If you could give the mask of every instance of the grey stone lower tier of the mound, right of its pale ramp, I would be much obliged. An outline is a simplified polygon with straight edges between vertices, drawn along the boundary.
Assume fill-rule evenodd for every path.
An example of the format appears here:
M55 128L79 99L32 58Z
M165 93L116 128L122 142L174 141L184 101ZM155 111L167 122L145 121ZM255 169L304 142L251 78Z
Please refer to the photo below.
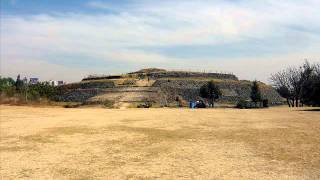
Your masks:
M239 100L250 99L251 82L232 80L213 80L221 89L222 97L219 102L237 103ZM176 97L182 97L185 101L201 99L199 97L200 87L207 83L207 80L157 80L153 86L159 87L165 94L167 102L174 102ZM280 95L271 87L260 84L262 97L268 99L271 104L282 103Z

